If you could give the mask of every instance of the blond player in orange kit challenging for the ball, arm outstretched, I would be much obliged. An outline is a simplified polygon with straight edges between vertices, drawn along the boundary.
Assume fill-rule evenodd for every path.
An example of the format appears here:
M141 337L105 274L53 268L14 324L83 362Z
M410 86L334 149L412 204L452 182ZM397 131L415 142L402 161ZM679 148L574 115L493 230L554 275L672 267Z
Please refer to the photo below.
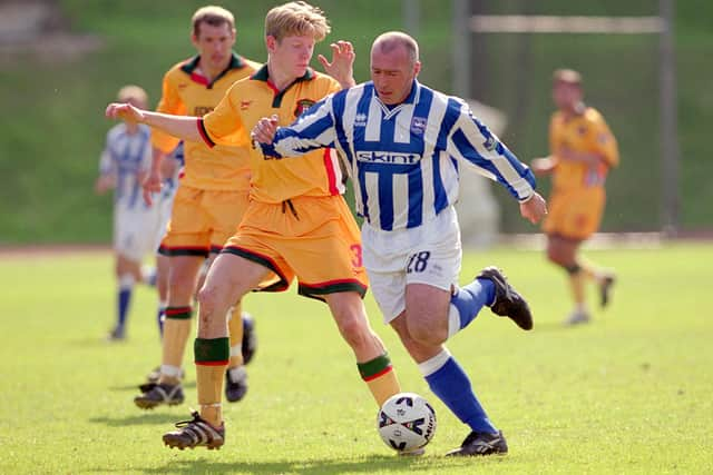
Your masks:
M329 93L354 85L354 52L346 41L332 44L332 62L319 58L331 77L309 67L314 44L329 31L319 8L302 1L275 7L265 18L267 63L250 79L236 82L213 112L196 120L113 103L106 115L148 123L209 146L250 147L250 131L260 118L276 115L280 123L291 123ZM177 424L178 431L164 435L164 443L170 447L218 448L224 444L221 388L228 356L225 313L271 275L279 280L268 289L286 289L296 276L301 295L329 305L377 404L400 392L389 356L371 329L361 300L367 275L359 228L341 196L344 186L335 151L316 150L301 160L265 160L258 149L250 150L251 202L198 294L194 349L201 413Z

